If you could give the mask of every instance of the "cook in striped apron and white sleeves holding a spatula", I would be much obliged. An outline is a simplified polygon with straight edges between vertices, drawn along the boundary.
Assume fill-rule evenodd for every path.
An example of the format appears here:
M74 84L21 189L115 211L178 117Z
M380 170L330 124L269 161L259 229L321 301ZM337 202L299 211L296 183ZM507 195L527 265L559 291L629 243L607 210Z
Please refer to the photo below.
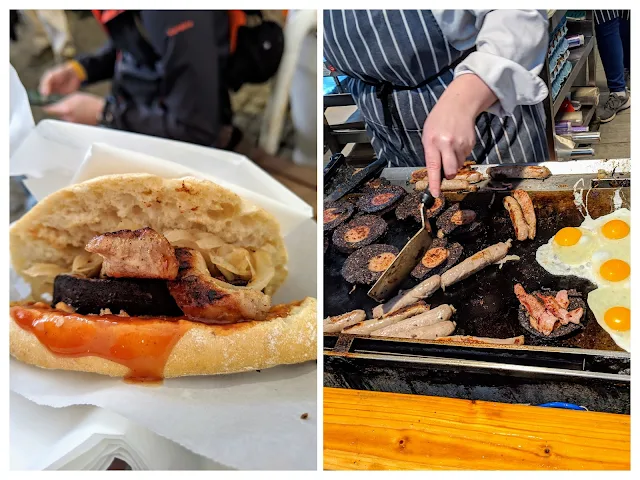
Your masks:
M378 158L440 192L467 160L547 159L544 10L324 11L324 55L350 77Z

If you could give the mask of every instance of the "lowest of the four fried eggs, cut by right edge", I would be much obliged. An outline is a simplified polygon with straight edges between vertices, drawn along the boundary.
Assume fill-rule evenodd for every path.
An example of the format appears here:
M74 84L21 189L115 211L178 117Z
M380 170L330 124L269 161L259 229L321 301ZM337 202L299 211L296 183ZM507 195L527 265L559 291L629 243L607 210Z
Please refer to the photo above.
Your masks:
M620 348L631 351L631 290L602 287L587 296L598 324Z

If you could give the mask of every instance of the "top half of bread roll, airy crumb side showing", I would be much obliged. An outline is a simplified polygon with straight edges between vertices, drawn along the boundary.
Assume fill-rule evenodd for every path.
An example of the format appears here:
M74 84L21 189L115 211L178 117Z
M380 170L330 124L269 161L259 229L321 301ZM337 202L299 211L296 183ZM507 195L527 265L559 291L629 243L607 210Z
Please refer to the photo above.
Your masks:
M37 264L70 271L94 236L144 227L207 232L231 246L267 249L275 268L267 295L287 277L280 225L270 213L207 180L148 174L98 177L44 198L11 228L11 263L27 281L33 279L25 271Z

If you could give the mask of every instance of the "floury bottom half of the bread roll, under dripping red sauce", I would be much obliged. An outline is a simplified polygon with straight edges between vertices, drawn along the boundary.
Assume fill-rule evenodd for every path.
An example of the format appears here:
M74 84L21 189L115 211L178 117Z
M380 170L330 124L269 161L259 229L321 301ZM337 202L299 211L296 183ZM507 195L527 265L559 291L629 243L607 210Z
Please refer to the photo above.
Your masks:
M286 317L235 325L189 322L173 347L164 378L217 375L302 363L317 357L316 300L306 298ZM41 368L125 377L129 368L96 356L51 353L31 332L10 319L10 351L16 359Z

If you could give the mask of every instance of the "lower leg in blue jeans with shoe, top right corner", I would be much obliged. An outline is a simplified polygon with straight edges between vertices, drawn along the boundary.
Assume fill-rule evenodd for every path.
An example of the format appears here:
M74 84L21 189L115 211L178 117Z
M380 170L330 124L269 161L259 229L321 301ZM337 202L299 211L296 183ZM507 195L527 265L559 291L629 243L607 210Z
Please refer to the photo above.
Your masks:
M609 98L598 106L600 122L613 120L631 106L631 10L594 10L598 52L609 87Z

